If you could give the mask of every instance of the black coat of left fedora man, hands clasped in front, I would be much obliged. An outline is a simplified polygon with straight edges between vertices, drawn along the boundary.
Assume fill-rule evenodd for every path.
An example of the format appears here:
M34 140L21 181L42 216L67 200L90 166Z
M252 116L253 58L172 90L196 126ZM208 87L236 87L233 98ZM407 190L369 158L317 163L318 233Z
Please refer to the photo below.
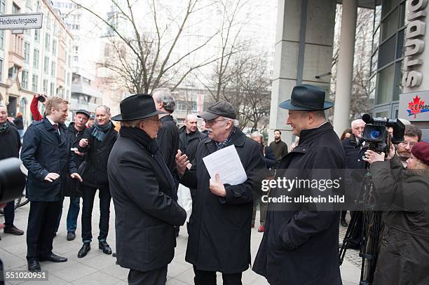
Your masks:
M128 137L119 137L112 148L108 174L119 265L139 271L168 265L175 253L173 225L186 220L186 211L172 198L176 189L147 146Z

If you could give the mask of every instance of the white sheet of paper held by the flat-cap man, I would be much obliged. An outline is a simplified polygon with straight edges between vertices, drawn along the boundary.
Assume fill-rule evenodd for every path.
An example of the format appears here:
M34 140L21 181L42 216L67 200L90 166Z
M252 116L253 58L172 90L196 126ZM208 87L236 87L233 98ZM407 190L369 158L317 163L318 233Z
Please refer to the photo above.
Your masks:
M235 146L227 146L203 158L210 178L219 174L222 183L237 185L247 180L247 175Z

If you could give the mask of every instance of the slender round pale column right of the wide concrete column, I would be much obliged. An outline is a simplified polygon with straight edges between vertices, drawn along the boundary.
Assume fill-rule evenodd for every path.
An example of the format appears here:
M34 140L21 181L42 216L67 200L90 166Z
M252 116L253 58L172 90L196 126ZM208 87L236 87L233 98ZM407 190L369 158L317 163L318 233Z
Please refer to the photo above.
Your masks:
M336 68L336 95L334 105L334 130L341 136L349 125L350 99L353 78L353 56L355 54L355 34L357 0L343 0L341 15L341 36Z

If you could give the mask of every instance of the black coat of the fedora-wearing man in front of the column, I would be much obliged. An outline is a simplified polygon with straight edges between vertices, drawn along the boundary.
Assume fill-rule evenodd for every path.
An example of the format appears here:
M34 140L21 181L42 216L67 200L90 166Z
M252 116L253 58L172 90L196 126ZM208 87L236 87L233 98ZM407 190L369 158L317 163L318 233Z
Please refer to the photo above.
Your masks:
M339 138L332 125L325 123L301 131L299 146L282 158L275 179L294 179L293 169L344 166L345 154ZM338 240L338 211L312 211L307 207L297 211L268 210L253 270L273 285L339 285Z

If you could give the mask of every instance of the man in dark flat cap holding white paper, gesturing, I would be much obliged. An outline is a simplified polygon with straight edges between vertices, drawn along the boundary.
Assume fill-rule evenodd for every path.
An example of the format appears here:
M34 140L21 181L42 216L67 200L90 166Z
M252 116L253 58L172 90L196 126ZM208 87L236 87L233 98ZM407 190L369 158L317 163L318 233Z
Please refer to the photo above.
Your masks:
M200 115L208 137L198 144L191 169L181 151L176 163L180 183L191 189L193 204L188 226L186 261L193 265L196 285L216 284L216 272L222 272L224 284L241 284L242 272L250 265L250 223L254 200L254 180L264 169L261 146L245 137L235 125L236 110L221 101ZM238 185L222 183L217 174L210 179L203 158L227 146L235 146L247 174Z

